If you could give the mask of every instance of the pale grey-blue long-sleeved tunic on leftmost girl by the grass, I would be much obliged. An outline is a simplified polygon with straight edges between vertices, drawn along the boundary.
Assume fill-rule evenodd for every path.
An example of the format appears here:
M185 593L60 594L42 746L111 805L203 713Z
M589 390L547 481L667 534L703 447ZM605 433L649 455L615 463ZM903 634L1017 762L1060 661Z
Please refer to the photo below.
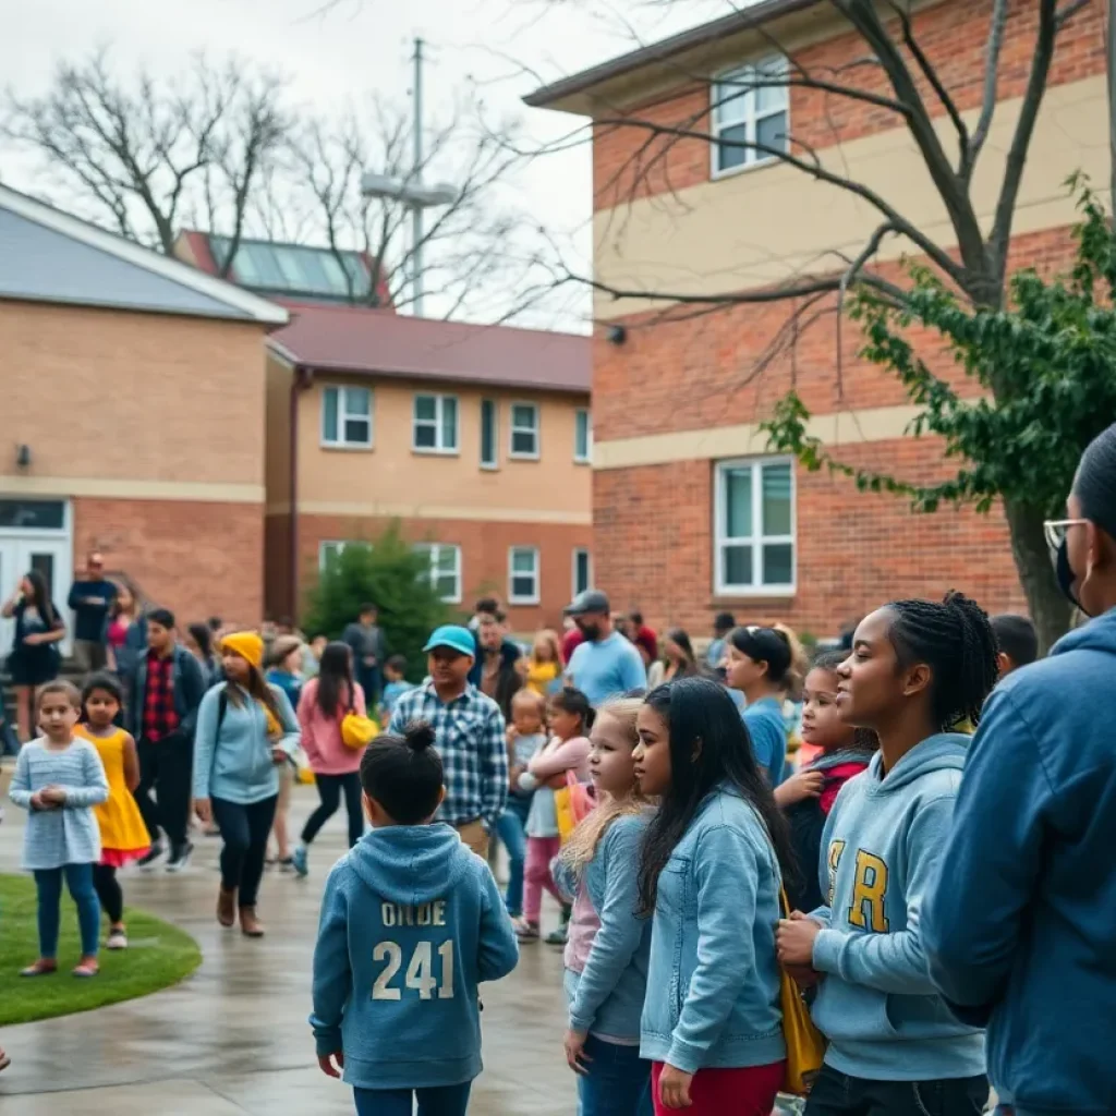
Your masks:
M60 787L66 801L55 809L35 809L31 797L44 787ZM93 744L74 740L60 751L41 739L23 744L8 797L31 815L23 831L26 870L100 860L100 829L93 807L108 801L108 780Z

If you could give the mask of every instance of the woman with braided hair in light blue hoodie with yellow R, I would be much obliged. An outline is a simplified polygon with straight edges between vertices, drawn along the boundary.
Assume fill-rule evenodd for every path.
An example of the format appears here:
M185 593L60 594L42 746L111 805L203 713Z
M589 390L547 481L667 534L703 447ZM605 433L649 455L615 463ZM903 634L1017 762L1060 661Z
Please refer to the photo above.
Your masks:
M814 1021L829 1039L807 1116L980 1113L984 1037L930 980L921 935L970 739L995 684L984 612L960 593L897 600L857 626L837 708L879 751L837 796L818 865L826 905L779 924L779 960L821 978Z

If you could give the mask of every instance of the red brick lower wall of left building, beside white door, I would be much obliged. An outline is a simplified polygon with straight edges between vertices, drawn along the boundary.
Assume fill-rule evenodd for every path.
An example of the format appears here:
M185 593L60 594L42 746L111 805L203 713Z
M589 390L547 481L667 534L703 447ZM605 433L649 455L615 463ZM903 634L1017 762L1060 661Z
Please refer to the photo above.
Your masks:
M75 564L94 548L180 625L263 617L262 504L76 499Z

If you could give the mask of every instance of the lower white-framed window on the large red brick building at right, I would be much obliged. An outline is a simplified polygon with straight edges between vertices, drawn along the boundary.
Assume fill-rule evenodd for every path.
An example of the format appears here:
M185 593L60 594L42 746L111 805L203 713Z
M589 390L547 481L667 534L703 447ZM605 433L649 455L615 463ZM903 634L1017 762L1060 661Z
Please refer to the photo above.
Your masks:
M721 461L713 507L719 596L795 591L795 466L789 458Z

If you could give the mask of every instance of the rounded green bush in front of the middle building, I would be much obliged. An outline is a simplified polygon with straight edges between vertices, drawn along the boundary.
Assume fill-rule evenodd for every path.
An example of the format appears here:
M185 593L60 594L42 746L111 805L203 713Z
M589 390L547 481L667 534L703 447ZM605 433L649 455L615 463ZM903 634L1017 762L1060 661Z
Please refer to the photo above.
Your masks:
M397 523L367 543L349 543L329 560L307 596L305 627L337 639L367 603L379 609L388 651L405 655L407 676L421 681L430 633L454 616L431 584L429 559L412 549Z

